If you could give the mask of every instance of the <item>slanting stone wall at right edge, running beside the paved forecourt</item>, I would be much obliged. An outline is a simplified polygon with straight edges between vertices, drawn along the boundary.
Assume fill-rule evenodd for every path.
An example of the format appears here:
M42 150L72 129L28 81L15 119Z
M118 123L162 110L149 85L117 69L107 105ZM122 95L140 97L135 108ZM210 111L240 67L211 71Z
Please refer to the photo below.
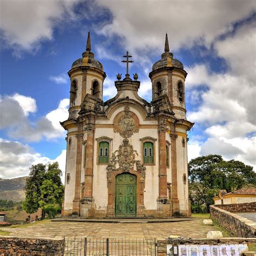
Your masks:
M218 205L219 206L219 205ZM211 218L237 237L256 237L256 224L237 214L225 211L214 205L210 206Z

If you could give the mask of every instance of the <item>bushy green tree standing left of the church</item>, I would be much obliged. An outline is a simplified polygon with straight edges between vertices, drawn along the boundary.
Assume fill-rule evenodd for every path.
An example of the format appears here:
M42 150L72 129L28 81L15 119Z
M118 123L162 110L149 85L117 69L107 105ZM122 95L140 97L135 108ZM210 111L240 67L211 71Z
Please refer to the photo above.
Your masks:
M26 179L23 209L34 213L40 207L42 218L45 218L45 208L48 205L61 205L64 186L60 180L62 171L57 162L53 164L37 164L30 167L29 177Z

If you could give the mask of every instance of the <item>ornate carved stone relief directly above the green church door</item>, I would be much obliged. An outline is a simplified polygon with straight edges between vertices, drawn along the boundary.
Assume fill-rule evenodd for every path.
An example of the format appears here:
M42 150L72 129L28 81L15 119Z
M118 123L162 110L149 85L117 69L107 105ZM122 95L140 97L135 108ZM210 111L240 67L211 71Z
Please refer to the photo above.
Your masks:
M119 172L120 170L123 172L136 170L141 177L145 178L146 167L143 166L140 160L136 160L136 156L138 158L137 151L133 150L133 146L128 139L124 139L123 144L112 154L110 163L107 165L107 178L109 179L113 172Z

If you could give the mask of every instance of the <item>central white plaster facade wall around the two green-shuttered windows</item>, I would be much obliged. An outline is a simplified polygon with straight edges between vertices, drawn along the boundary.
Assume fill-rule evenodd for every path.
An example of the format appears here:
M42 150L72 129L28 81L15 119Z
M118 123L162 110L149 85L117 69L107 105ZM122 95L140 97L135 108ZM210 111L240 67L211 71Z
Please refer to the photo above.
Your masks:
M107 123L112 124L113 117L117 113L123 111L124 107L120 106L116 110L111 120L108 120ZM152 122L144 122L137 110L130 107L130 111L137 114L139 122L144 124L152 124ZM100 123L100 120L97 120L97 123ZM102 123L102 122L101 122ZM106 122L105 122L106 123ZM115 133L112 128L109 127L100 127L96 128L95 131L95 156L97 156L97 138L107 136L112 138L111 142L111 154L118 150L119 146L123 143L123 137L119 133ZM133 149L138 153L138 159L142 160L142 143L140 139L144 137L152 137L157 139L155 143L155 153L156 153L156 165L146 166L146 178L145 178L145 193L144 193L144 205L146 209L156 210L157 209L157 198L158 198L158 131L156 128L152 129L139 129L138 133L134 133L130 138L129 142L133 146ZM106 166L107 165L97 165L97 157L93 160L93 197L95 198L96 208L105 208L107 206L107 179L106 179ZM117 166L118 167L118 166Z

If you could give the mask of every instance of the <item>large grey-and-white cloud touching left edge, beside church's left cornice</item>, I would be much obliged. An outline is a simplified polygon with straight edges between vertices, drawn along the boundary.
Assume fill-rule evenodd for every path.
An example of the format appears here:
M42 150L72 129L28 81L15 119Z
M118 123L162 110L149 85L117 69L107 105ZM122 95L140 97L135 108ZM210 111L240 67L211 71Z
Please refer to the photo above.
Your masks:
M35 123L30 122L25 113L36 111L36 100L16 94L14 97L5 96L0 101L1 129L8 128L10 138L22 139L26 142L38 142L45 139L64 137L65 131L59 122L68 118L69 99L60 101L57 109L39 118ZM26 102L28 99L28 102ZM32 104L31 104L32 103Z

